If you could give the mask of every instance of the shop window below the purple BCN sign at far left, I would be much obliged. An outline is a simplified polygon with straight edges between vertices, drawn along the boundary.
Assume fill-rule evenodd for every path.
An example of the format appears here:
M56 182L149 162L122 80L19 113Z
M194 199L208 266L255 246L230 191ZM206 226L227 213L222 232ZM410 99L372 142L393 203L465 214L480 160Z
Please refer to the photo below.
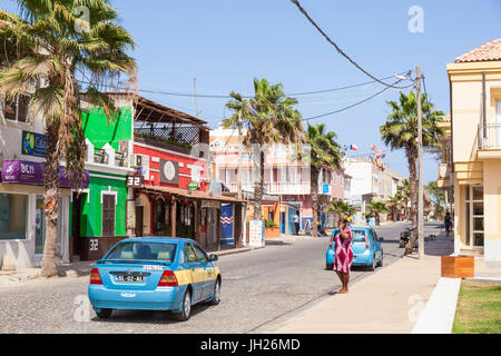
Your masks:
M0 194L0 240L27 238L28 196Z

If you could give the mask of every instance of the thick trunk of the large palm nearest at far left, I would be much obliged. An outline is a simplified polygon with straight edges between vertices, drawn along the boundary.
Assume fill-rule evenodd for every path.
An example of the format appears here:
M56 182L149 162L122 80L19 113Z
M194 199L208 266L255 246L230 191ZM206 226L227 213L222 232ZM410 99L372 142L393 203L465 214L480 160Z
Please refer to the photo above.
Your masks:
M58 226L58 196L59 196L59 157L56 155L58 130L55 126L47 127L47 156L43 164L45 209L46 209L46 241L41 264L41 277L51 277L58 274L56 266L56 240Z

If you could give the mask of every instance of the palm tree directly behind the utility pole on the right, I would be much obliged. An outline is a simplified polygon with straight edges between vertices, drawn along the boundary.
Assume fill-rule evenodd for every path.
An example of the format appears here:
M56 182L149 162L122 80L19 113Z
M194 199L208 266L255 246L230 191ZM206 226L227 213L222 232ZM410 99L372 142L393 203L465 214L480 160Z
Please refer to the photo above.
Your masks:
M403 148L409 166L409 181L411 192L412 235L405 248L404 255L412 253L412 247L418 238L418 105L413 91L406 96L401 92L399 102L389 101L392 112L386 122L380 127L381 137L391 149ZM435 111L434 105L428 100L428 96L421 97L423 147L431 147L438 142L438 137L443 135L438 123L442 121L443 112Z

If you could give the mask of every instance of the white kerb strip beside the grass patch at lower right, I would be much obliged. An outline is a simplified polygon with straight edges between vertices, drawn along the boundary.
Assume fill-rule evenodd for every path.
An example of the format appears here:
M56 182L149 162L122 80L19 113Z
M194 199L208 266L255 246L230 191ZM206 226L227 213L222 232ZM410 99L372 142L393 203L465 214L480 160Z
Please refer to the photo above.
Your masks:
M411 334L451 334L461 278L441 277Z

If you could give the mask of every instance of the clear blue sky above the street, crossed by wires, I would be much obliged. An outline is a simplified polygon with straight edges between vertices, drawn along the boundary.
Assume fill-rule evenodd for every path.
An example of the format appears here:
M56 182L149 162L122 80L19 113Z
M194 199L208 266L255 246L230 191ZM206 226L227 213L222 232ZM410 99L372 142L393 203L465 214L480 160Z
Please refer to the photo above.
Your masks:
M2 0L4 3L4 1ZM376 77L420 65L436 108L449 112L445 65L501 34L499 0L302 0L303 7L345 52ZM139 87L198 93L252 92L254 77L282 82L286 92L336 88L370 79L337 55L289 0L115 0L122 26L134 36ZM412 6L424 9L424 33L407 30ZM4 6L14 10L12 1ZM304 117L333 111L381 90L380 85L334 93L297 97ZM313 122L326 122L341 144L357 152L385 149L379 135L389 113L387 90L370 102ZM147 95L195 112L193 98ZM198 99L212 128L224 116L224 99ZM228 115L228 111L226 111ZM407 175L403 151L385 162ZM424 181L436 179L436 161L425 156Z

